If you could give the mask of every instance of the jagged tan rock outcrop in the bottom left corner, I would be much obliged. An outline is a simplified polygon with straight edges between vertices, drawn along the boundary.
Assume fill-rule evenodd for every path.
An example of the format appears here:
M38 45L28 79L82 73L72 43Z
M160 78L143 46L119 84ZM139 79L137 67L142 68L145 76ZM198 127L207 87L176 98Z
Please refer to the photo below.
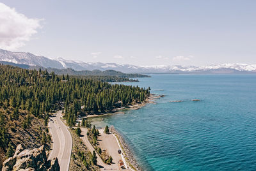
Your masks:
M37 149L24 149L23 144L17 145L15 154L4 161L2 171L8 170L40 170L53 171L60 170L58 159L47 160L44 145Z

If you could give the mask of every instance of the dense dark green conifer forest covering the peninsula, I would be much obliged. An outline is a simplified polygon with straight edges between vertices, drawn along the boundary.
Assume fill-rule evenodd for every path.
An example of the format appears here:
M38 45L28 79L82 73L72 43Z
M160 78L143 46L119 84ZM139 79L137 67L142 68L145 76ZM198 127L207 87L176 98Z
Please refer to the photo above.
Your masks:
M150 94L145 88L14 66L0 65L0 75L0 107L3 110L12 107L10 117L13 121L19 119L19 110L45 118L48 112L64 107L67 124L73 126L78 115L109 112L115 107L144 101ZM2 133L6 130L0 130L0 144L6 150Z

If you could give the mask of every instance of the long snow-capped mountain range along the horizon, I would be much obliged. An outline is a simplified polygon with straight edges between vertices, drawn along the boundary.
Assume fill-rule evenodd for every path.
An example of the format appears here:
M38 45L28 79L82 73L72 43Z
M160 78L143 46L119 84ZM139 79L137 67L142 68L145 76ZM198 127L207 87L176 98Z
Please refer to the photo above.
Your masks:
M217 64L207 66L135 66L116 63L84 63L63 58L49 59L29 52L10 52L0 49L0 61L44 68L74 70L116 70L124 73L256 73L256 64Z

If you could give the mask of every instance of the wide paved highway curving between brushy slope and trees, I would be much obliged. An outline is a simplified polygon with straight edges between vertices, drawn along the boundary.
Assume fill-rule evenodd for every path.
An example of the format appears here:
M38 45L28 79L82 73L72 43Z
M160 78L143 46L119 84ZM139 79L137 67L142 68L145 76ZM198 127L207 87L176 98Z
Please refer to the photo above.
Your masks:
M68 170L70 156L72 151L72 137L68 131L68 127L60 119L61 111L55 117L51 117L49 132L52 135L52 151L49 154L48 160L58 158L60 170Z

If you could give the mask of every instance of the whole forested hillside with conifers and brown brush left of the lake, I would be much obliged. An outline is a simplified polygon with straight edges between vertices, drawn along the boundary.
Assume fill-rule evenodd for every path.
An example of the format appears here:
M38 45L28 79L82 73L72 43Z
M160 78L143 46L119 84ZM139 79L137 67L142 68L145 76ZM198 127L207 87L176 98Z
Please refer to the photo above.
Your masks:
M26 148L51 141L49 114L65 109L68 126L78 115L111 112L144 101L148 89L109 84L90 78L0 65L0 160L12 156L17 144Z

